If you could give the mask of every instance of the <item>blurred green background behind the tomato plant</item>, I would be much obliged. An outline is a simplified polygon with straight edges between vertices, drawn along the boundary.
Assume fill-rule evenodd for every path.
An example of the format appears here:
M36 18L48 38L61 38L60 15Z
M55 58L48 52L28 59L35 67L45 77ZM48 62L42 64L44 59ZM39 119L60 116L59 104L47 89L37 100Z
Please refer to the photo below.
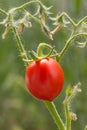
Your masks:
M28 0L0 0L0 8L6 11ZM54 14L67 12L76 22L87 15L87 0L42 0L47 6L53 6ZM2 15L0 14L0 21ZM0 130L56 130L47 108L28 94L25 86L25 67L21 61L17 43L12 32L5 40L1 39L4 27L0 26ZM67 29L55 34L50 41L41 31L40 26L24 29L21 39L26 50L35 50L40 42L55 45L60 51L67 40ZM73 130L83 130L87 124L87 48L77 48L73 43L61 60L65 74L65 85L55 104L64 119L63 100L66 86L82 83L82 93L72 102L72 110L78 120L72 123Z

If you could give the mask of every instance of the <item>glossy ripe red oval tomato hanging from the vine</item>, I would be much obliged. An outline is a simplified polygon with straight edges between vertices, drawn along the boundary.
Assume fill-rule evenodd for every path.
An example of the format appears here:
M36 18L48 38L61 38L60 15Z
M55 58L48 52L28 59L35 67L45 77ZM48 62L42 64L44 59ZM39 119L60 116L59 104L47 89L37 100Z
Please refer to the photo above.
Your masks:
M33 96L52 101L63 88L64 74L56 60L46 58L34 61L27 67L25 80L28 90Z

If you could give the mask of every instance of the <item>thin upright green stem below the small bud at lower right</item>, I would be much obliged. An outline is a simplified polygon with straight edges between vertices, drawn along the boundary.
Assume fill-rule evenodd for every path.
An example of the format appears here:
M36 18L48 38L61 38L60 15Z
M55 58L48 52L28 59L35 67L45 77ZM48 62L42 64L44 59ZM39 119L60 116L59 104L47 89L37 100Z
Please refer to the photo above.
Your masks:
M69 105L67 101L64 103L65 108L65 114L66 114L66 130L71 130L71 118L70 118L70 111L69 111Z

